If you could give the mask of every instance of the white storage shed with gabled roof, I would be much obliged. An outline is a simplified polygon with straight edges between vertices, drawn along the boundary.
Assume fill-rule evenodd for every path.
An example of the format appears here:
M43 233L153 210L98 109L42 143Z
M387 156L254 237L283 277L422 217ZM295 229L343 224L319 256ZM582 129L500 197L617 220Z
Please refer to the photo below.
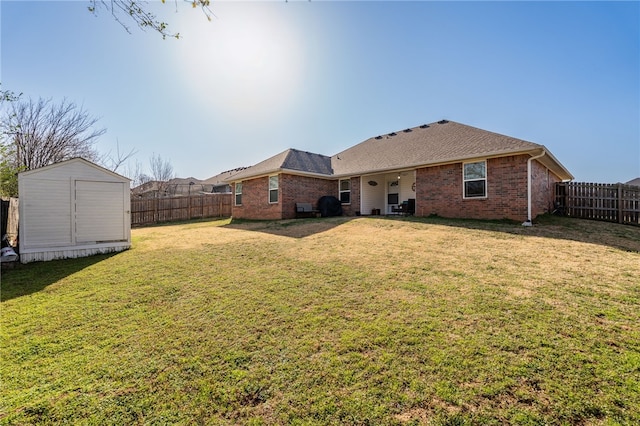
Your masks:
M18 175L20 261L131 247L129 179L82 158Z

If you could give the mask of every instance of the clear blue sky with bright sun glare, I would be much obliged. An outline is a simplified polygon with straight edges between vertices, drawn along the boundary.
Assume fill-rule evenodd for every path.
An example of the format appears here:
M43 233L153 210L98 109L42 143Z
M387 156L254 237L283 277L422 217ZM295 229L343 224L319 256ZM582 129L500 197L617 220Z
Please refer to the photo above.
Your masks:
M640 177L640 2L0 0L0 82L74 102L96 145L206 179L288 148L334 155L441 119L546 146L578 182ZM108 1L107 1L108 4ZM125 23L128 23L126 19Z

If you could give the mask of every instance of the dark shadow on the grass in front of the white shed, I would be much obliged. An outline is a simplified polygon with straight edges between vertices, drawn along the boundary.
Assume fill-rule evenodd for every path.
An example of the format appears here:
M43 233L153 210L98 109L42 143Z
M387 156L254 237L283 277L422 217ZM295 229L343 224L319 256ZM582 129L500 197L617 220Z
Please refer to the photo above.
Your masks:
M73 275L118 253L97 254L76 259L52 260L48 262L17 263L2 270L0 302L42 291L51 284Z

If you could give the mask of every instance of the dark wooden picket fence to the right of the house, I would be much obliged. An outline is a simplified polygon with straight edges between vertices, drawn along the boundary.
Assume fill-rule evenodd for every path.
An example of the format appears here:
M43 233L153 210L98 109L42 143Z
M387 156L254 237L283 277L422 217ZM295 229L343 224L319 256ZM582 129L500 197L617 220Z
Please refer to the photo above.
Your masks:
M640 187L560 182L556 184L555 207L566 216L640 225Z

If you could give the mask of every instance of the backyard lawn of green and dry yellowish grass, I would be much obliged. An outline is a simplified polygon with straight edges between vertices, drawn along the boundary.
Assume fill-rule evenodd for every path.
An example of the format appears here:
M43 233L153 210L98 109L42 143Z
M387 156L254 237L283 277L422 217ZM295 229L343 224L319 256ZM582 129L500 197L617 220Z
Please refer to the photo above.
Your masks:
M640 228L202 221L2 274L1 424L640 423Z

